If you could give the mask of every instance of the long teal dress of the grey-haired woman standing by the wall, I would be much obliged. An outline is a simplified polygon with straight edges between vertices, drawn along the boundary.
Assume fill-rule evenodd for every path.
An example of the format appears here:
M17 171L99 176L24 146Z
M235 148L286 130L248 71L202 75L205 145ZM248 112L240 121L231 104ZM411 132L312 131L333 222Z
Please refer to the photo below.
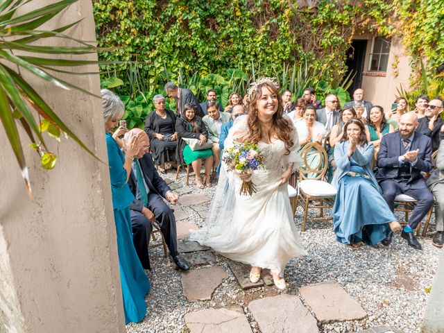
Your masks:
M106 134L106 146L108 147L108 163L110 164L112 207L116 223L125 323L138 323L145 317L145 295L151 286L133 244L129 206L134 200L134 196L126 182L126 170L123 169L125 157L117 142L108 133Z

